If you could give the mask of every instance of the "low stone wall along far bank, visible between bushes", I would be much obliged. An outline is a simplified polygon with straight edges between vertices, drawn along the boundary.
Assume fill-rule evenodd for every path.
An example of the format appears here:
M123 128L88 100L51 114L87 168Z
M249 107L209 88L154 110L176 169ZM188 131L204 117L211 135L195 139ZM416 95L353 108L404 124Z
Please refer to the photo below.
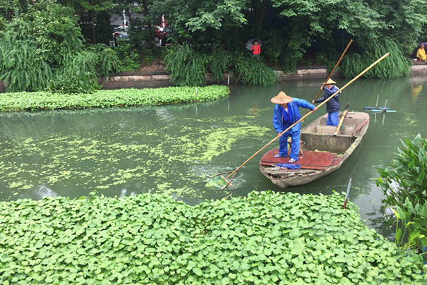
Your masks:
M309 80L309 79L324 79L327 78L329 72L326 66L316 66L311 68L297 68L292 73L284 73L283 71L275 71L279 82L287 80ZM426 63L414 63L411 66L411 75L414 76L426 76L427 77L427 64ZM227 84L228 77L230 76L230 83L235 83L233 76L228 73L224 73L224 79L222 84ZM335 73L335 77L339 77L339 73ZM215 82L212 74L206 75L208 84L214 84ZM169 80L169 74L164 71L155 71L152 73L146 73L141 71L128 71L124 73L113 73L109 76L98 79L102 89L120 89L120 88L156 88L156 87L168 87L172 86ZM6 90L6 84L0 81L0 92Z

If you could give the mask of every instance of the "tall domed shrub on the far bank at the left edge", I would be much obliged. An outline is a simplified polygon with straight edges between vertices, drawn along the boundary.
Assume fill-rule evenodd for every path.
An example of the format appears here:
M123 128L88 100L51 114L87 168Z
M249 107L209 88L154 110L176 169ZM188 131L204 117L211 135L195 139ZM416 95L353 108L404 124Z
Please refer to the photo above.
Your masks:
M73 10L39 1L0 33L0 78L8 91L44 90L55 73L83 48Z

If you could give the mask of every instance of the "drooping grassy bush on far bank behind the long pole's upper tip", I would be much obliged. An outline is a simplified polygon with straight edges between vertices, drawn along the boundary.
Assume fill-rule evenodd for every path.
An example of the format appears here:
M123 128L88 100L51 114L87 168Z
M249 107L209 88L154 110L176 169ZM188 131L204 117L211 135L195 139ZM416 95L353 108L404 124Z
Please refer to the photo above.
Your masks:
M366 72L366 78L398 78L408 75L410 72L410 61L407 59L399 46L392 40L383 40L373 44L363 54L348 54L342 59L339 71L346 78L353 78L365 68L370 66L381 56L390 52L387 59L378 63L375 68Z

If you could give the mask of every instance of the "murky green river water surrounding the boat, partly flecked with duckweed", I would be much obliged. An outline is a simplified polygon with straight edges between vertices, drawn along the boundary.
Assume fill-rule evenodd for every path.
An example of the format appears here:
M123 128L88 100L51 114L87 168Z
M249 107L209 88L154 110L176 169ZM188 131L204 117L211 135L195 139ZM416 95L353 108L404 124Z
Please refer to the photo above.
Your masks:
M0 113L0 200L88 195L168 193L194 205L232 193L281 189L259 171L261 155L248 162L224 191L205 187L218 172L232 171L277 135L272 128L270 98L283 90L311 102L321 80L291 81L270 87L231 86L217 102L161 107L82 109ZM338 86L347 83L339 80ZM357 80L340 95L342 108L375 105L397 110L371 114L361 145L334 174L299 193L343 192L351 176L350 200L359 205L366 224L390 235L375 186L376 168L392 162L399 139L427 137L427 78ZM303 114L304 110L301 110ZM325 107L303 123L325 114ZM270 148L276 147L274 143Z

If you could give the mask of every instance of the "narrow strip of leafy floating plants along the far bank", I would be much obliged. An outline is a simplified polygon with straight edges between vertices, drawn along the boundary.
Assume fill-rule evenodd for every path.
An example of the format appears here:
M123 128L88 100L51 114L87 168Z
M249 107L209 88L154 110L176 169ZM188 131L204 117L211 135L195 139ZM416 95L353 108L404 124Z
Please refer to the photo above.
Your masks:
M99 90L76 95L49 92L11 92L1 95L0 110L53 110L203 102L219 99L227 96L227 94L227 87L219 85L198 87L197 96L194 87Z

